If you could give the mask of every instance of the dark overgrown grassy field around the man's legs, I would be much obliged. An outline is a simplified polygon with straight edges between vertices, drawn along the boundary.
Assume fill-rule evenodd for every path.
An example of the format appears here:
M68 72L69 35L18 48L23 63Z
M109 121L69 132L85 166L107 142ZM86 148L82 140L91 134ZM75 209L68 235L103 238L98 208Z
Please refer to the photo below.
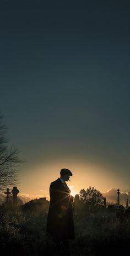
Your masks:
M7 212L0 216L0 247L4 253L22 256L63 255L45 235L47 213ZM129 251L130 221L117 221L107 211L74 216L75 240L71 255L124 255Z

